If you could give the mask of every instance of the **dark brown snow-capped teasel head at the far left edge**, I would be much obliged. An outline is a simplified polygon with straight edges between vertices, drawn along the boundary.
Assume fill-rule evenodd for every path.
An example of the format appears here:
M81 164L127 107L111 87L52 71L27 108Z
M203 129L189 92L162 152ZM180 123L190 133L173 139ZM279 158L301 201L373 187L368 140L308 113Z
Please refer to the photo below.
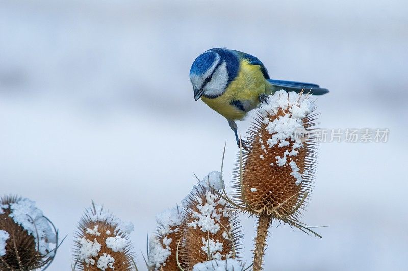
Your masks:
M0 270L46 268L58 248L58 231L35 202L0 198Z

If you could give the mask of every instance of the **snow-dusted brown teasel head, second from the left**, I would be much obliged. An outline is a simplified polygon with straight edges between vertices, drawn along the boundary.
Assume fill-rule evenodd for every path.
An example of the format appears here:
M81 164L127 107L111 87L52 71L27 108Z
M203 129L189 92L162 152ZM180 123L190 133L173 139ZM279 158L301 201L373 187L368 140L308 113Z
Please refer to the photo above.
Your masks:
M127 234L131 222L123 222L100 205L85 210L75 234L75 270L135 270Z

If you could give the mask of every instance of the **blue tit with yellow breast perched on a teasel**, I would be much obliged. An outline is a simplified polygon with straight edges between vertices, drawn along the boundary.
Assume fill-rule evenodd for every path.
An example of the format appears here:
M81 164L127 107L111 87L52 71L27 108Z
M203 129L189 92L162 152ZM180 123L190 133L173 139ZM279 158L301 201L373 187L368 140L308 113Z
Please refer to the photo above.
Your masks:
M255 56L227 48L213 48L200 54L190 69L194 100L201 99L225 117L235 133L238 147L246 147L238 137L235 121L242 120L249 111L278 90L302 90L314 95L329 91L317 84L274 80L265 65Z

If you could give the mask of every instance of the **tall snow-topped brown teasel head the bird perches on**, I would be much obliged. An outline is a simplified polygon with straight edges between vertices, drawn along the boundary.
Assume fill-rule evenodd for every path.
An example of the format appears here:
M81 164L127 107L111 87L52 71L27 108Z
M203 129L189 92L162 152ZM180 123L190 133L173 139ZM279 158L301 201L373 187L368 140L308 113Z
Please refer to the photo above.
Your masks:
M316 115L306 95L278 91L263 103L236 170L236 198L254 215L300 216L312 189Z

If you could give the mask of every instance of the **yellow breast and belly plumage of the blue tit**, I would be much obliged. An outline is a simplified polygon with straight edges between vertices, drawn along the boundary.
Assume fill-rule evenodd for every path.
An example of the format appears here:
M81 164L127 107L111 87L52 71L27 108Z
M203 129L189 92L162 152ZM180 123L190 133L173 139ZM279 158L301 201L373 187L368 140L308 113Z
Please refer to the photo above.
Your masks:
M243 119L248 111L258 105L259 95L265 93L267 87L259 66L250 65L245 59L241 61L237 77L222 95L213 99L201 97L201 100L226 119ZM244 104L245 111L234 106L233 101Z

